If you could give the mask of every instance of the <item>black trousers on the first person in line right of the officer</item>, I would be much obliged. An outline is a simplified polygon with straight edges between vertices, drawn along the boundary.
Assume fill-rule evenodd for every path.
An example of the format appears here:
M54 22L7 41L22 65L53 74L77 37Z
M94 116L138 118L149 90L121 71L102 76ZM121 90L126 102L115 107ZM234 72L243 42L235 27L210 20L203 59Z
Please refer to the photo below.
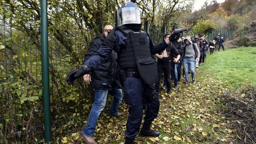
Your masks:
M167 89L171 89L171 63L168 62L158 62L158 76L156 77L156 92L160 91L160 82L161 82L161 76L164 72L164 78L167 82Z

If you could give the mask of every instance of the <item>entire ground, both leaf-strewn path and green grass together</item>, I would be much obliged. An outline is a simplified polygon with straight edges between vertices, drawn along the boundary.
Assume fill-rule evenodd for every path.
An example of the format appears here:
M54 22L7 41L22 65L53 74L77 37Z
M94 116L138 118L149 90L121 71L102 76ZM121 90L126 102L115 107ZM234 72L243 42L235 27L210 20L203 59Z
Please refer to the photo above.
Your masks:
M136 137L136 143L239 143L242 137L238 127L230 128L241 122L228 120L223 101L220 99L227 91L242 85L255 86L255 51L256 47L241 47L228 49L207 56L206 62L196 71L196 84L184 84L184 78L178 89L172 89L171 94L161 91L159 95L159 115L153 121L153 129L159 130L159 137ZM246 55L246 57L245 57ZM235 58L234 58L235 56ZM251 57L248 62L248 57ZM127 106L120 105L124 114L110 117L107 114L111 103L108 97L107 105L98 120L95 139L98 143L123 143L126 129ZM226 98L228 100L228 98ZM63 114L69 116L68 123L59 124L62 127L53 130L57 143L82 143L79 139L82 127L87 123L87 117L92 101L83 104L83 114ZM232 103L232 101L231 101ZM238 112L241 110L238 110ZM229 114L230 115L230 114ZM229 116L230 117L230 116ZM240 124L241 125L241 124Z

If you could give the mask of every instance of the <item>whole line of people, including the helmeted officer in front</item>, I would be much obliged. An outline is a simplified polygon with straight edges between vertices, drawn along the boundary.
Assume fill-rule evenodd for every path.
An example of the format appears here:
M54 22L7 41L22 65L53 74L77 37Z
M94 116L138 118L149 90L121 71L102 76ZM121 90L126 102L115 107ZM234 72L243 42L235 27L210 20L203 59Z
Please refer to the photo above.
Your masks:
M154 45L149 34L141 28L140 10L135 3L121 5L117 13L119 26L113 28L110 24L105 25L104 34L89 44L83 65L66 76L69 85L83 77L95 89L87 125L81 132L81 139L89 144L97 143L94 132L108 92L114 96L109 113L111 116L122 114L118 107L123 98L129 108L125 144L135 143L137 134L158 137L160 133L151 126L158 116L162 73L169 94L171 79L174 80L174 87L178 88L181 66L184 65L185 84L190 80L189 71L191 81L195 82L197 62L199 65L206 57L206 52L199 49L200 38L204 40L204 36L193 42L190 37L180 37L180 33L165 34L164 40ZM202 41L201 45L203 47L207 43Z

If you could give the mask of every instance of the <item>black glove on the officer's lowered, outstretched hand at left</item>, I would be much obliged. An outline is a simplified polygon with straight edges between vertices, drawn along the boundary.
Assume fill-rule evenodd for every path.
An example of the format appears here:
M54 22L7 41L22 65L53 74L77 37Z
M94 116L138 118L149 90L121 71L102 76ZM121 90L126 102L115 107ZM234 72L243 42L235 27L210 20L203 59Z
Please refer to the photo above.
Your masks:
M89 68L87 65L80 66L79 69L72 70L68 73L66 76L66 82L68 82L69 85L73 85L73 82L80 78L81 76L84 76L85 74L89 73Z

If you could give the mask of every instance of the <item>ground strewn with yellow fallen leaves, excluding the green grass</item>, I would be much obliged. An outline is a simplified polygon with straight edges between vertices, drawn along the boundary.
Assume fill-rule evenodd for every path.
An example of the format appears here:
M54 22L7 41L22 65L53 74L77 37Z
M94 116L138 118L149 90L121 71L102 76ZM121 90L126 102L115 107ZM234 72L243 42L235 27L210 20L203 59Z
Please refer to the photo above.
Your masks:
M165 93L165 90L161 91L159 115L153 121L154 129L159 130L161 135L137 136L137 143L230 142L233 130L226 128L225 117L218 109L221 108L218 95L228 87L210 75L200 75L200 69L197 70L197 79L200 80L197 80L196 84L189 85L184 85L183 80L178 89L172 89L171 94ZM127 107L122 103L120 111L124 114L110 117L107 114L108 105L110 103L100 116L94 137L98 143L124 142ZM75 124L78 127L76 132L58 137L57 142L81 143L79 134L86 123L85 120Z

